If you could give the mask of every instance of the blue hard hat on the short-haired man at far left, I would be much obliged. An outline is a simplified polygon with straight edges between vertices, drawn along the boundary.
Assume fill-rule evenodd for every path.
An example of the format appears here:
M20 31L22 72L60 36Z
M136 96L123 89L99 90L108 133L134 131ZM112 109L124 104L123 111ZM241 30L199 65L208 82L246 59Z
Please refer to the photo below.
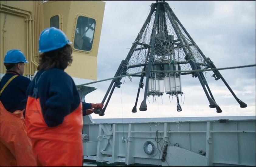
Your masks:
M28 63L25 55L19 49L11 49L5 54L4 63Z

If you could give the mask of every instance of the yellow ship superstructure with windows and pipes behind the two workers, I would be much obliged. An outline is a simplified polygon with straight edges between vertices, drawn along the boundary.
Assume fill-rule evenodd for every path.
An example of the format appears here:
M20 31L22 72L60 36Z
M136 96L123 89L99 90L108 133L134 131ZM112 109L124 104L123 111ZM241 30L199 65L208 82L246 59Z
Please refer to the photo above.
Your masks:
M97 55L105 2L102 1L0 1L0 76L10 49L20 49L31 77L39 63L38 38L47 27L61 29L72 42L72 77L97 80Z

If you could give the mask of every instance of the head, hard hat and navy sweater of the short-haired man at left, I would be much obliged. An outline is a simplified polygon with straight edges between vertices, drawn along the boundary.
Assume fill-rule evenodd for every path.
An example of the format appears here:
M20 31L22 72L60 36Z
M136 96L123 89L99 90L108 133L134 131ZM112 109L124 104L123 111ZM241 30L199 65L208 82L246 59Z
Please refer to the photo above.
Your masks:
M2 91L0 101L5 109L12 113L16 110L25 109L22 101L26 99L26 89L31 82L29 78L22 76L25 70L25 63L27 63L26 58L18 49L9 50L5 55L4 65L7 71L0 81L0 90L10 78L15 75L17 77Z

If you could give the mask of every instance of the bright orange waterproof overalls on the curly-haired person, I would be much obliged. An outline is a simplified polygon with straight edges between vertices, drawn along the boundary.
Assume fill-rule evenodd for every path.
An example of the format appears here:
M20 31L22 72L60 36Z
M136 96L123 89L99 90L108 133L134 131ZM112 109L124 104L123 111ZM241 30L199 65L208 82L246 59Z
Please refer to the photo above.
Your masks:
M28 97L26 106L27 132L32 140L37 165L82 165L82 103L64 117L62 124L48 127L44 121L39 98Z

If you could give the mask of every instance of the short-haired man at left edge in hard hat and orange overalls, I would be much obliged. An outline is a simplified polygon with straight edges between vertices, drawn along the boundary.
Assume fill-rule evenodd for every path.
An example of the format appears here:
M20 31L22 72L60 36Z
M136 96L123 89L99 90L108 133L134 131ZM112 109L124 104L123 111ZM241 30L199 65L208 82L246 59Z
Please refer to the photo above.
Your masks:
M23 75L27 60L18 49L4 58L6 74L0 81L0 166L35 166L31 140L23 116L29 78Z

